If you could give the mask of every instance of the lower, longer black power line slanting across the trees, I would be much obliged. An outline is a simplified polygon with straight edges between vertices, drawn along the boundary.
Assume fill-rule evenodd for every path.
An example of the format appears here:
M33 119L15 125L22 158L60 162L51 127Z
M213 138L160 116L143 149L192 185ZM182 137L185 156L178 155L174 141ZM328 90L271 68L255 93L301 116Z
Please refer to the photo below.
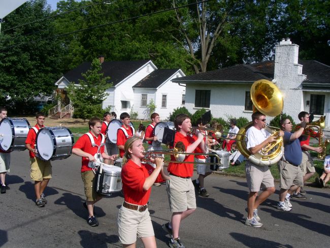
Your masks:
M155 14L159 14L159 13L163 13L163 12L167 12L167 11L171 11L171 10L175 10L175 9L185 8L185 7L188 7L190 5L201 4L201 3L206 3L206 2L210 2L210 1L213 1L213 0L203 0L203 1L200 1L200 2L192 3L192 4L186 4L186 5L182 5L182 6L178 6L178 7L173 7L173 8L169 8L169 9L165 9L165 10L156 11L156 12L153 12L153 13L148 13L148 14L144 14L144 15L140 15L140 16L130 17L130 18L126 18L126 19L122 19L122 20L118 20L118 21L113 21L113 22L108 22L108 23L105 23L105 24L100 24L100 25L91 26L91 27L87 27L87 28L82 28L82 29L78 29L78 30L75 30L75 31L69 32L69 33L64 33L64 34L50 36L50 37L46 37L46 38L42 38L42 39L38 39L38 40L34 40L34 41L24 42L24 43L14 45L14 46L4 47L4 48L1 49L1 51L6 50L8 48L22 46L22 45L26 45L26 44L30 44L30 43L34 43L34 42L38 42L38 41L44 41L44 40L48 40L48 39L54 39L54 38L61 37L61 36L67 36L67 35L79 33L79 32L90 30L90 29L97 28L97 27L103 27L103 26L112 25L112 24L116 24L116 23L120 23L120 22L124 22L124 21L129 21L129 20L135 20L135 19L138 19L138 18L141 18L141 17L151 16L151 15L155 15Z

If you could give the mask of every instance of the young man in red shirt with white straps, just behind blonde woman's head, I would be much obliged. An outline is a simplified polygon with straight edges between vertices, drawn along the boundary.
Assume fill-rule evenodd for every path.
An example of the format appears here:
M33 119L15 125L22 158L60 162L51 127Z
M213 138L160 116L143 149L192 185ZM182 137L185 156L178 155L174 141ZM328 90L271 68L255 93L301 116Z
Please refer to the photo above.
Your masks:
M128 140L130 137L133 137L133 129L129 126L130 122L130 116L128 113L123 112L120 114L120 120L123 123L120 129L117 130L117 146L119 149L119 156L120 158L123 157L125 151L124 151L124 145L126 140Z

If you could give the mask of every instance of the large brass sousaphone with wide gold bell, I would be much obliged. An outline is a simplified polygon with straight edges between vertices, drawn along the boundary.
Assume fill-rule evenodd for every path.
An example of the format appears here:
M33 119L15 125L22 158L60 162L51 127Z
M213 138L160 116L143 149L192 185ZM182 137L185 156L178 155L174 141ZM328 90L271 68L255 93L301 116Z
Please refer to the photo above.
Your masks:
M279 115L283 110L283 97L279 88L272 82L261 79L255 81L251 86L251 100L253 102L253 112L257 109L259 112L268 115ZM236 141L239 151L250 162L259 166L270 166L277 163L283 156L283 138L279 137L273 143L263 147L259 152L251 154L250 150L246 147L245 134L246 131L253 125L253 122L247 123L238 132L238 140ZM272 136L278 136L279 129L273 127L266 127L266 130ZM271 153L269 154L269 151Z

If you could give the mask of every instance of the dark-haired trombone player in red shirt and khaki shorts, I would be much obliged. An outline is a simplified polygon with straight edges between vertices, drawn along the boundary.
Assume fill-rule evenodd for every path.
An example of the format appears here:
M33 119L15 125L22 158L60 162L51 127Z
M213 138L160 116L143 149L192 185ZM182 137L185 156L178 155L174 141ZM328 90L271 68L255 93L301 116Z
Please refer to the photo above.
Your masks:
M188 115L178 114L175 117L174 125L177 130L174 145L182 142L186 153L194 152L197 146L200 146L205 152L204 135L202 133L197 134L197 137L188 135L191 128ZM173 155L171 156L171 161L176 161ZM167 191L172 218L171 222L162 225L162 228L172 235L170 247L184 247L179 239L180 222L196 209L195 191L191 181L194 155L185 156L184 162L190 163L170 162L168 167L170 180L167 180Z

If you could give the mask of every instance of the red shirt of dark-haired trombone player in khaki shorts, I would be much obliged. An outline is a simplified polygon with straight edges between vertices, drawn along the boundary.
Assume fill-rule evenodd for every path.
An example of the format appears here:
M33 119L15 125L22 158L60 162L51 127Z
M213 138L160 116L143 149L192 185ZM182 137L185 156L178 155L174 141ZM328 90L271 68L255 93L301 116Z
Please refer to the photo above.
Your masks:
M187 150L187 147L192 144L196 138L193 138L191 136L184 136L180 132L176 132L175 138L174 138L174 145L178 143L179 141L183 142L185 150ZM194 162L193 160L194 155L187 155L184 159L184 162ZM175 161L175 158L173 155L171 155L171 161ZM169 163L168 167L169 173L181 176L181 177L191 177L193 174L193 163L187 163L187 164L180 164L180 163Z

